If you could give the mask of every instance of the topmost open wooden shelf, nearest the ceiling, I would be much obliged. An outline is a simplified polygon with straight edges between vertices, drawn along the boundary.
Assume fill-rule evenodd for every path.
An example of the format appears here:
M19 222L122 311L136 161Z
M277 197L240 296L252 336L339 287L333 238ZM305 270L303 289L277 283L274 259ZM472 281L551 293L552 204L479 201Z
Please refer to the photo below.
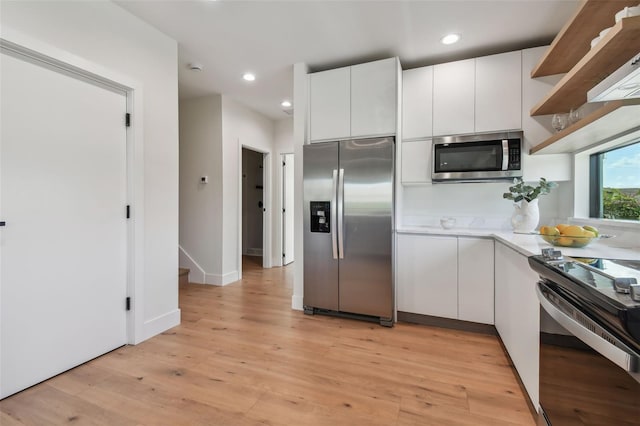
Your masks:
M626 6L635 6L638 0L586 0L573 17L560 30L547 53L531 71L531 77L564 74L587 53L591 40L600 31L615 23L615 14ZM637 49L636 49L637 50Z

